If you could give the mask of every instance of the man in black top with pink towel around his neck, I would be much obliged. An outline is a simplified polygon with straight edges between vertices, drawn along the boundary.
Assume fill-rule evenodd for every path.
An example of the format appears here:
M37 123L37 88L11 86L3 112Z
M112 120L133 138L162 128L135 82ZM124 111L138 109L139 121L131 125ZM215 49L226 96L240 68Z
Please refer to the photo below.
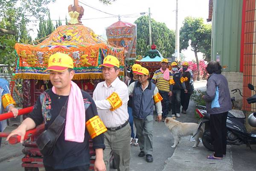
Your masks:
M70 131L71 133L74 133L72 132L72 128L67 126L67 122L71 122L71 125L74 126L73 129L77 129L79 123L76 119L72 120L70 117L66 117L67 119L64 129L55 143L52 154L44 155L45 170L88 171L90 165L88 142L90 134L93 139L93 148L96 151L94 170L105 171L106 167L103 161L103 149L105 148L105 145L102 133L106 128L99 116L97 116L96 105L93 99L88 93L81 91L79 87L71 81L75 73L73 71L73 59L70 58L69 55L55 53L49 58L47 70L50 71L49 78L53 85L52 89L48 89L45 93L41 94L32 113L29 113L28 118L26 118L17 129L9 134L7 140L12 135L19 135L21 136L20 143L22 143L26 130L33 129L42 123L45 123L45 130L47 130L68 99L66 115L69 115L72 118L72 115L76 114L76 117L81 116L85 119L84 123L86 124L84 124L84 128L82 128L82 126L78 128L81 130L84 129L84 132L81 133L81 136L84 136L84 138L79 139L81 136L76 138L75 134L73 134L75 139L70 140L70 137L68 137L69 140L67 140L67 134L70 133ZM74 91L74 89L76 89L79 94L75 94L76 91ZM70 96L74 97L74 95L76 97L78 95L81 99L75 97L75 100L72 101L73 103L69 105L70 99L72 99ZM75 107L73 106L76 103L82 103L84 110L82 107L81 110L80 108L74 109ZM76 110L76 112L73 112L74 110ZM85 112L83 113L79 111ZM73 118L75 117L73 116ZM93 125L92 120L96 123L98 122L100 125Z

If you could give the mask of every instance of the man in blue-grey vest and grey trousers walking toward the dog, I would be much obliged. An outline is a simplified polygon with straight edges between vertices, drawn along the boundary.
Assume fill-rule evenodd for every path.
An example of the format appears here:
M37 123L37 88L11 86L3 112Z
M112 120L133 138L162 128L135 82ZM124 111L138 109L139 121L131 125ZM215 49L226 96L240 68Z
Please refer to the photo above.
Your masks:
M157 108L158 121L162 119L163 99L158 93L155 84L148 81L148 70L141 67L137 71L138 81L130 84L128 87L129 95L132 95L134 123L139 138L140 154L146 161L153 162L153 107Z

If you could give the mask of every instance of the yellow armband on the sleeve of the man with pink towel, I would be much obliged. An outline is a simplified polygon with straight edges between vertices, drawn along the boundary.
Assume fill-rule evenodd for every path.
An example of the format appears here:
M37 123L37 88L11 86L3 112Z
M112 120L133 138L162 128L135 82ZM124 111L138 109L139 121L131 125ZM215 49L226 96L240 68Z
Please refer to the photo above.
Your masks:
M107 128L99 116L93 116L85 123L85 125L92 139L107 131Z

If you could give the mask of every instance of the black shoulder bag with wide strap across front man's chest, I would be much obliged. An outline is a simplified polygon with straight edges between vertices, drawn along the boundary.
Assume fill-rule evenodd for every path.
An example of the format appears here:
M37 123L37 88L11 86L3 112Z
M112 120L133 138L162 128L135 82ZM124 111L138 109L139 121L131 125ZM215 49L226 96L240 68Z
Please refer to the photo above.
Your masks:
M64 129L67 113L67 101L49 128L44 130L44 132L41 133L41 135L38 136L38 139L36 140L36 144L38 145L41 154L44 156L49 156L52 154L54 146Z

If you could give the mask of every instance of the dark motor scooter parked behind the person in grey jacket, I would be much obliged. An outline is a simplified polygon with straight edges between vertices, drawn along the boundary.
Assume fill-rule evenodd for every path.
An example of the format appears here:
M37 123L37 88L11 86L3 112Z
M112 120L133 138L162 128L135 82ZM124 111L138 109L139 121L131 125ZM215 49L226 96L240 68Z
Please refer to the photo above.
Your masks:
M252 84L248 84L248 87L250 90L254 90L254 87ZM231 91L239 91L240 95L241 92L239 89L234 89ZM255 90L254 90L255 91ZM234 92L236 93L236 92ZM235 97L231 98L232 104L235 101ZM248 103L256 103L256 95L253 95L252 97L247 99ZM202 105L196 105L198 109L196 109L196 112L199 114L199 116L202 118L202 121L200 122L198 126L198 132L201 130L201 127L205 125L204 127L204 133L202 136L202 142L205 148L207 148L209 151L213 151L213 145L212 145L212 137L210 134L210 127L209 127L209 119L210 114L207 113L206 107ZM253 113L252 113L253 114ZM256 113L254 113L256 114ZM253 116L255 117L255 115ZM246 144L248 147L250 147L251 144L256 144L256 133L250 133L247 132L245 126L244 126L244 119L246 116L244 115L243 111L241 110L230 110L227 114L227 145L242 145ZM251 147L250 147L251 148Z

